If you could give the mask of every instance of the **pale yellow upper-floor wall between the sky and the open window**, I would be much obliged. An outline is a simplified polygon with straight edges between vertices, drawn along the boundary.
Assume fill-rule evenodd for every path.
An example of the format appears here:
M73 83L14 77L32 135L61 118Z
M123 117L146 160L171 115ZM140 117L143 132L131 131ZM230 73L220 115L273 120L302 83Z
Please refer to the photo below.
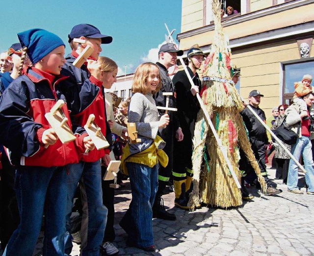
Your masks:
M203 27L204 0L182 0L181 32Z

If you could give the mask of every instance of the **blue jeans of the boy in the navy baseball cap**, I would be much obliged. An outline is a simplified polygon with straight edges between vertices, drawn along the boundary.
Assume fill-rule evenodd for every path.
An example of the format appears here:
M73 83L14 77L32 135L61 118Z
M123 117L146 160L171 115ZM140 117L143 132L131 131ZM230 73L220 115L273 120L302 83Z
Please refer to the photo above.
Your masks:
M81 223L81 255L99 256L107 221L107 208L103 205L102 176L100 161L79 162L69 165L67 179L68 199L65 233L65 255L71 254L71 213L75 191L80 186L83 216Z

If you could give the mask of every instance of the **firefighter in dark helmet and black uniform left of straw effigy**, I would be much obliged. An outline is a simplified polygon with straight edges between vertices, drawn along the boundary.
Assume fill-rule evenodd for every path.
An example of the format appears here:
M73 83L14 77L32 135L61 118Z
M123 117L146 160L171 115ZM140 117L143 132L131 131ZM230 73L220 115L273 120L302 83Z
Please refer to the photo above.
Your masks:
M184 70L179 71L173 78L173 84L177 91L177 107L179 122L182 127L184 138L174 143L173 182L176 194L175 206L188 209L188 191L193 179L192 150L195 122L200 110L196 94L201 91L202 83L197 73L201 68L205 54L198 48L192 46L187 51L185 64L193 84L191 85Z

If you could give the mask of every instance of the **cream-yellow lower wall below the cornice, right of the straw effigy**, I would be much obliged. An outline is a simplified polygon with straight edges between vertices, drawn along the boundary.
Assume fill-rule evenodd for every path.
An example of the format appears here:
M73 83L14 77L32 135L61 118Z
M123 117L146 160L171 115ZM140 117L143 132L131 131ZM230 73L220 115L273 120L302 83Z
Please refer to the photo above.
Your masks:
M314 57L314 44L310 57ZM231 61L241 69L241 97L247 99L251 90L258 89L264 95L260 107L266 117L271 116L271 109L282 103L279 95L281 62L293 59L300 59L296 40L234 51Z

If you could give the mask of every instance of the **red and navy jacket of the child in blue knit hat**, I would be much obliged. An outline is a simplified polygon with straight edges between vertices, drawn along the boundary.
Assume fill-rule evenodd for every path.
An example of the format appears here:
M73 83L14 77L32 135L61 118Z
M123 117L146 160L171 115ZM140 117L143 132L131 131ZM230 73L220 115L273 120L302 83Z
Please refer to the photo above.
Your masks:
M50 128L45 113L58 99L66 102L59 84L67 77L54 77L36 68L28 68L25 73L8 86L0 99L0 142L10 150L11 163L41 167L77 163L74 142L63 144L57 140L45 148L41 141L44 130ZM62 110L70 120L66 104ZM71 122L67 123L71 128Z

